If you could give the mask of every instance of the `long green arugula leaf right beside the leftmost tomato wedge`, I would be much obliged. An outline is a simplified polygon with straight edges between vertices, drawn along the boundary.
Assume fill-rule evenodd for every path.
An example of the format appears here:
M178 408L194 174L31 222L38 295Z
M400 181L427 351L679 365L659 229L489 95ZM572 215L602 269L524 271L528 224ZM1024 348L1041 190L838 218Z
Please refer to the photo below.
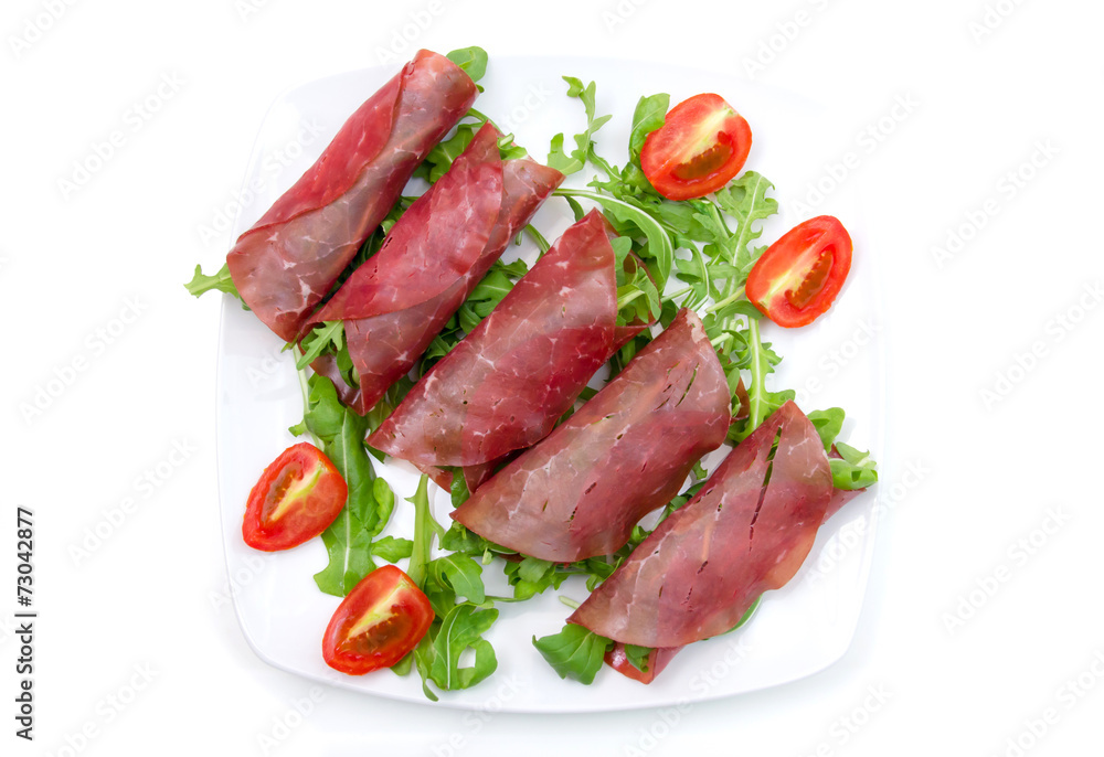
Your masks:
M329 564L315 574L315 583L326 594L343 597L375 569L372 540L388 525L395 495L386 481L375 477L364 448L368 420L341 405L326 376L311 376L308 387L304 423L294 430L309 430L322 443L322 451L349 487L344 509L322 532Z

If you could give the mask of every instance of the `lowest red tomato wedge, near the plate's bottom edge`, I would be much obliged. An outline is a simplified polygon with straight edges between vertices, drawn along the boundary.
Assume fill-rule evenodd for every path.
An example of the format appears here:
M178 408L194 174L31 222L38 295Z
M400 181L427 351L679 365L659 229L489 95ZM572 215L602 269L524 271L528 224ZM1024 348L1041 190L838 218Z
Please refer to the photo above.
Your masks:
M322 637L322 658L333 670L363 675L390 668L417 647L433 622L433 607L394 565L364 576L342 600Z

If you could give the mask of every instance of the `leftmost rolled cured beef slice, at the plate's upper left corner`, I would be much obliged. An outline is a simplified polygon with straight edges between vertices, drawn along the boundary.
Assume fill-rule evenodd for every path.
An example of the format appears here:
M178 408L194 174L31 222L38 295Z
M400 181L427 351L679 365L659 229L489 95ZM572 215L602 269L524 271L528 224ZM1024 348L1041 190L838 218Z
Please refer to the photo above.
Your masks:
M296 338L476 94L459 66L420 51L238 237L226 256L231 277L245 303L280 339Z

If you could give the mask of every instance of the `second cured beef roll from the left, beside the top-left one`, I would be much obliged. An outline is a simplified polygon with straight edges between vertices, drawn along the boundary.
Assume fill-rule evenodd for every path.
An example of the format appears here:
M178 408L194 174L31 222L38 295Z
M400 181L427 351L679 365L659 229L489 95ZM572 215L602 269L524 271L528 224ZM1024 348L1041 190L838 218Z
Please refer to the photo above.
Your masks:
M552 193L563 174L521 158L503 161L500 135L484 126L467 149L395 223L380 250L353 271L307 324L344 321L359 387L332 359L312 364L361 415L425 352Z

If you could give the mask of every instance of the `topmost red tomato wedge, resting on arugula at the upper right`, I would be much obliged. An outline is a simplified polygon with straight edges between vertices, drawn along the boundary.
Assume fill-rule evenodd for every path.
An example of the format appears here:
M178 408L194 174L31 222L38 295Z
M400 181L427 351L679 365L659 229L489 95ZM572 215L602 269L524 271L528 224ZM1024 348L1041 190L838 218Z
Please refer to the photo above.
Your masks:
M648 135L640 168L669 200L702 198L740 173L752 148L752 130L720 95L684 99Z

